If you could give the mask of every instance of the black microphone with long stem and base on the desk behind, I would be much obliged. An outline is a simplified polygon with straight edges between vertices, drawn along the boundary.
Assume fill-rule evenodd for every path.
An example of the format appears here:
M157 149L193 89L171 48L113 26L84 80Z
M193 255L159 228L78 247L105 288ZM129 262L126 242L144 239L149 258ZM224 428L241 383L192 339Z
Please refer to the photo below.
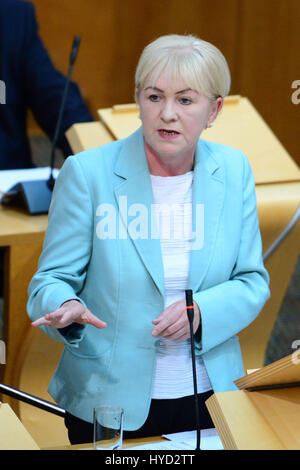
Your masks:
M55 127L54 138L51 147L50 156L50 176L45 180L32 180L23 181L11 187L2 197L1 203L6 206L23 207L29 214L47 214L50 207L52 191L55 184L53 176L55 147L57 144L58 136L61 130L62 116L65 108L66 97L68 94L69 84L73 66L77 58L78 49L80 44L80 37L75 36L73 39L72 50L69 60L69 71L63 91L63 97L59 109L58 119Z

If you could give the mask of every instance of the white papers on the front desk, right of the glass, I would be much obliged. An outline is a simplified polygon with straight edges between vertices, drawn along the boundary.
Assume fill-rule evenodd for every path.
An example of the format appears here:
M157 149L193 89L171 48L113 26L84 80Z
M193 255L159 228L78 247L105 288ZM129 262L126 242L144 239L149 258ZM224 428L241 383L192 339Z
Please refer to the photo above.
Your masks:
M174 434L165 434L166 441L143 444L129 447L124 450L195 450L197 445L196 431L186 431ZM215 428L202 429L201 450L223 450L223 444Z

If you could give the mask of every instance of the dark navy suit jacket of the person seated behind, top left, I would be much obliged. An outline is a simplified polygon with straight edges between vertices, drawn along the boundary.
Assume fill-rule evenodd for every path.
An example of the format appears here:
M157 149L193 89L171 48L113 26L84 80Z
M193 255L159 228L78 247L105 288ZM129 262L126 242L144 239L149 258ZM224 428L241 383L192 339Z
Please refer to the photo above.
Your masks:
M32 167L27 110L32 110L53 139L66 79L54 68L39 38L34 6L29 2L0 1L0 80L6 87L6 103L0 104L0 170ZM72 153L65 131L74 122L91 120L77 85L71 83L58 139L65 156Z

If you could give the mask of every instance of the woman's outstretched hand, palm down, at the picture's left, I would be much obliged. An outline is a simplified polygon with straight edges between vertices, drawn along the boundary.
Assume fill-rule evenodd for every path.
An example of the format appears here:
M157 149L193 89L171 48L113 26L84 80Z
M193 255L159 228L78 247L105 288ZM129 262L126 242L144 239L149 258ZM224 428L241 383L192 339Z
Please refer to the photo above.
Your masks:
M105 322L97 318L81 302L75 299L64 302L54 312L35 320L32 322L32 326L46 325L53 328L65 328L71 325L71 323L90 324L96 328L106 327Z

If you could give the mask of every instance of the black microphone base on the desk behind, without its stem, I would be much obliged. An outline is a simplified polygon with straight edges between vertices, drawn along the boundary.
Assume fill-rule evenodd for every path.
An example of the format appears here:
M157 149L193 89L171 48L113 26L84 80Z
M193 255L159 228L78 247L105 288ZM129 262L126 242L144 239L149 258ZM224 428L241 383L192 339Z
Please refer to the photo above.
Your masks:
M12 186L2 197L4 206L23 208L30 215L47 214L52 197L48 180L23 181Z

